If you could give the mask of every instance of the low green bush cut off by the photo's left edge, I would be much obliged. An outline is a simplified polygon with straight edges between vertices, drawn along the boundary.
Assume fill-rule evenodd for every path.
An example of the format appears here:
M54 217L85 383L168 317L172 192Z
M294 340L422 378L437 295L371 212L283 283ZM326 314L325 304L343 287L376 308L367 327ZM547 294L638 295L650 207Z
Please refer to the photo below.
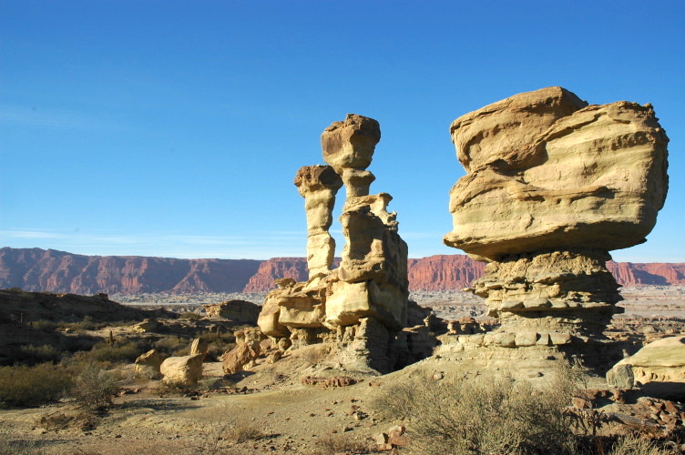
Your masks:
M49 363L0 368L0 406L37 406L60 399L72 385L66 369Z

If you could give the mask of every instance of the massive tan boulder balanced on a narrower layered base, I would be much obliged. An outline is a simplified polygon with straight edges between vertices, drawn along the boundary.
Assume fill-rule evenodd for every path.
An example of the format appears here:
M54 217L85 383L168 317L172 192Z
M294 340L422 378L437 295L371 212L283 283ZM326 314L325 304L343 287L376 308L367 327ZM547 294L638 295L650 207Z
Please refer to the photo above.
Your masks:
M450 193L455 228L445 244L497 259L645 241L668 189L669 139L651 106L621 101L561 116L565 107L542 122L548 127L528 128L519 121L521 106L542 121L550 90L512 96L455 121L453 139L469 173ZM469 123L481 116L486 123Z

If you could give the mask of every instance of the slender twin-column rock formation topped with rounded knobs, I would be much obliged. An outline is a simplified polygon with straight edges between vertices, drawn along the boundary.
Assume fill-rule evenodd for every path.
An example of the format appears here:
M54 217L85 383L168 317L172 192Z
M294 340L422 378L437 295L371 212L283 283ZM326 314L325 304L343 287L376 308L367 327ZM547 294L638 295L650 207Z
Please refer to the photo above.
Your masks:
M387 372L411 358L409 339L423 329L403 331L407 246L397 233L396 214L386 209L392 197L369 194L374 177L366 167L380 138L378 122L353 114L323 131L328 166L302 167L294 182L307 214L309 280L278 280L279 288L264 301L259 326L273 339L288 339L292 349L331 343L332 358L345 368ZM329 228L343 184L345 247L340 267L331 269L335 242Z

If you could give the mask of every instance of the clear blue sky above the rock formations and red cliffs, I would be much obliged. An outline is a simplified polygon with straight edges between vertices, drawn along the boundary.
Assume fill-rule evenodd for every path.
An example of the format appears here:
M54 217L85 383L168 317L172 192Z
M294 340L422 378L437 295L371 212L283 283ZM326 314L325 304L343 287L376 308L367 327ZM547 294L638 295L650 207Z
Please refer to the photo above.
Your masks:
M442 244L464 175L450 123L564 86L654 105L669 197L648 243L612 254L684 262L684 5L0 0L0 247L304 256L292 179L356 113L381 123L372 192L410 257L461 253Z

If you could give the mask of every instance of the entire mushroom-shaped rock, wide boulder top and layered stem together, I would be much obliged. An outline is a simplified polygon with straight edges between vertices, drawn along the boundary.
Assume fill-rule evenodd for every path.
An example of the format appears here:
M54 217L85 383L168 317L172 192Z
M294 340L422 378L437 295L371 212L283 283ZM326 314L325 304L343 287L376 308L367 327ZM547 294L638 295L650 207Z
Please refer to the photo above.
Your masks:
M588 106L548 87L461 116L451 133L467 174L445 244L488 263L473 290L502 321L460 343L597 359L622 309L608 251L646 241L668 189L669 139L652 107Z

